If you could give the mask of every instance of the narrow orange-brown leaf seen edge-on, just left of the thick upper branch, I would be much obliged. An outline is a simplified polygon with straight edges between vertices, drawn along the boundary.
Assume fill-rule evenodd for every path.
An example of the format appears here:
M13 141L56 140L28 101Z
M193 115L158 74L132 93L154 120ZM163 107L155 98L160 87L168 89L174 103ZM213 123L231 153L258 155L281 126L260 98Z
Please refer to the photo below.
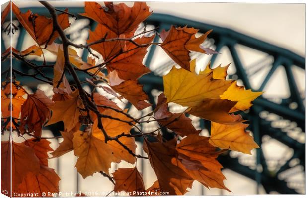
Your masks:
M60 47L58 48L58 52L57 52L57 60L56 63L54 65L54 79L53 79L53 84L54 84L54 88L60 87L62 88L63 91L65 91L67 94L71 94L72 93L72 89L70 86L69 81L67 80L67 78L65 77L64 72L64 54L63 51L60 49ZM60 83L61 82L61 83ZM58 86L59 84L59 86Z

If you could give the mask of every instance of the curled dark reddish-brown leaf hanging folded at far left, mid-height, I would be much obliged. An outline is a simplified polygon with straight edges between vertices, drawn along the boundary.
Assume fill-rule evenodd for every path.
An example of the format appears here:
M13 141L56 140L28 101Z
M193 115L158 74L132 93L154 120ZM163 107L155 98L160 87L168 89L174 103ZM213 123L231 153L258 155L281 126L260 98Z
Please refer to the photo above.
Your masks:
M42 90L37 90L35 94L29 94L26 101L21 106L21 119L19 130L21 133L34 132L38 138L42 135L42 127L50 117L49 106L53 101L49 99Z

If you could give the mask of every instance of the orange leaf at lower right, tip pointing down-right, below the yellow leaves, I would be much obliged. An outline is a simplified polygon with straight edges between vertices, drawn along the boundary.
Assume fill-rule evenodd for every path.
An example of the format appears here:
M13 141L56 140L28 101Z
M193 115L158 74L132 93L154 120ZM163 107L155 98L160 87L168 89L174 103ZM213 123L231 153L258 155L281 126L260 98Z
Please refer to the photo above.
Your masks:
M181 167L191 178L201 182L207 188L220 188L230 191L223 180L221 164L216 160L218 152L209 143L209 138L198 134L188 135L176 145L179 153L173 163Z

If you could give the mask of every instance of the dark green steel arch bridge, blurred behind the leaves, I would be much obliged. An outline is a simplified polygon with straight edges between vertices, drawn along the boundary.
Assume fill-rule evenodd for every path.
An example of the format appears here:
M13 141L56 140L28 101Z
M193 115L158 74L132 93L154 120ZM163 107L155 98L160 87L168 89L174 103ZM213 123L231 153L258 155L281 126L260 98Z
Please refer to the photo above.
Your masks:
M47 10L42 7L22 8L21 11L26 12L28 9L31 9L33 13L38 13L40 15L46 15L49 17ZM64 10L65 8L58 7L58 9ZM70 13L76 14L77 21L87 21L87 24L78 31L81 32L83 29L87 28L91 30L95 29L96 23L94 21L85 19L84 17L77 14L84 12L82 7L69 7L69 11ZM16 20L14 15L13 20ZM210 39L208 39L210 41L209 45L211 45L212 47L215 45L214 49L216 51L220 51L222 48L226 47L230 50L233 59L232 63L235 65L236 72L230 75L229 78L235 80L240 79L246 86L246 89L252 89L250 78L253 75L257 75L260 70L264 68L270 68L259 88L252 89L253 91L263 91L277 68L282 66L285 69L288 81L287 83L290 91L290 97L280 99L278 102L272 99L259 97L255 99L255 101L253 102L254 105L249 112L242 113L244 119L250 120L249 130L253 132L256 143L261 146L261 149L256 149L256 159L255 161L253 161L253 165L241 162L239 157L232 157L231 153L219 157L219 161L224 168L231 169L232 171L235 171L250 179L255 180L258 185L263 186L266 193L278 192L283 194L297 194L301 192L301 190L299 189L305 188L305 181L302 183L288 182L287 177L282 177L281 174L287 173L288 171L292 170L292 168L294 167L294 162L296 162L295 165L302 167L301 171L305 171L305 144L303 141L299 141L297 138L292 136L292 133L297 133L300 135L303 135L305 133L305 96L303 96L303 94L299 90L299 87L296 84L295 75L291 69L295 66L304 70L305 58L300 55L297 55L290 50L280 48L278 46L252 38L231 29L215 26L212 24L201 23L198 21L192 21L166 14L152 14L147 19L146 23L147 25L159 27L158 31L161 31L162 29L168 29L171 24L178 26L188 25L188 27L200 29L201 33L213 29L213 32L210 34ZM16 22L16 24L18 24L18 22ZM4 33L2 30L2 35L3 34ZM25 29L19 24L18 30L15 33L15 38L17 39L15 48L17 50L22 49L26 34L27 33ZM70 38L71 33L67 36L68 38ZM155 38L155 42L158 41L158 39L159 38L157 36ZM8 46L5 46L4 44L5 42L3 40L3 37L1 36L1 51L4 51L6 48L8 48ZM259 63L253 65L252 67L249 67L248 71L247 67L245 67L247 65L244 65L243 61L241 60L239 52L236 49L236 45L245 46L266 53L266 59L270 59L271 61L269 63L265 63L265 60L260 60ZM151 61L154 57L154 52L156 50L156 46L151 46L148 50L149 52L145 59L146 66L150 66L151 64ZM84 61L86 61L87 56L88 51L83 50L82 59ZM218 56L219 54L211 56L212 64ZM42 62L35 60L33 62L38 65L42 64ZM154 69L154 72L143 76L139 80L142 84L144 84L144 90L149 95L150 102L152 104L156 103L156 101L154 101L154 97L152 97L151 94L152 90L155 89L163 91L162 78L159 75L161 75L163 71L168 70L168 68L170 68L170 65L172 66L172 64L172 62L162 64L161 66L156 67ZM4 68L7 68L8 65L8 62L2 62L1 70L3 71ZM31 73L31 70L29 70L27 67L23 67L21 61L13 59L12 65L15 69L18 69L21 72ZM155 73L156 75L154 75L153 73ZM46 74L47 76L53 75L52 73L50 73L50 71L47 70ZM85 77L86 76L83 73L80 73L81 79L84 79ZM21 81L23 85L26 84L28 87L34 90L36 89L38 84L38 81L30 77L17 76L17 80ZM130 106L128 105L127 107ZM274 118L269 119L270 117ZM280 125L277 125L277 123L280 123ZM210 131L210 126L211 125L209 121L200 120L201 128ZM57 130L57 127L59 127L59 125L52 125L50 127L50 130L54 133L54 135L60 135L59 130ZM172 133L169 133L167 131L163 131L163 135L166 138L170 138L173 136ZM276 139L288 148L293 149L293 155L291 156L291 158L281 160L275 159L276 162L283 162L282 164L280 163L280 165L277 165L275 170L272 170L268 167L272 159L267 159L262 150L263 143L269 138ZM256 188L256 193L258 192L258 188Z

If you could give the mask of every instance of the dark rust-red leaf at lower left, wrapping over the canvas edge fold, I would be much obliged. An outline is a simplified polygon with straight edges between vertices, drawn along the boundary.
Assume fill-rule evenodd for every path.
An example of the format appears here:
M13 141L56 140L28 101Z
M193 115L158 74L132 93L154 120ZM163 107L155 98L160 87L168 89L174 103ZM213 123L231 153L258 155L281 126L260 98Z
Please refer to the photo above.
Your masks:
M39 169L40 161L31 147L24 143L1 141L1 180L11 181L13 190L29 172L36 174ZM9 184L6 189L10 189Z

